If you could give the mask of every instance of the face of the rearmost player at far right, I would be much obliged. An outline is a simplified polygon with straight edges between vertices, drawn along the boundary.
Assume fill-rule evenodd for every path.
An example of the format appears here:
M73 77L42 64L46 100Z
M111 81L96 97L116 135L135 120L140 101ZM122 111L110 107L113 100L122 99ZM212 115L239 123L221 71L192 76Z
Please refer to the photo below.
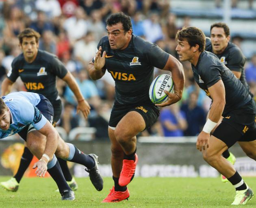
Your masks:
M210 40L215 54L220 54L225 50L228 46L229 39L230 36L226 36L223 28L213 27L210 31Z

